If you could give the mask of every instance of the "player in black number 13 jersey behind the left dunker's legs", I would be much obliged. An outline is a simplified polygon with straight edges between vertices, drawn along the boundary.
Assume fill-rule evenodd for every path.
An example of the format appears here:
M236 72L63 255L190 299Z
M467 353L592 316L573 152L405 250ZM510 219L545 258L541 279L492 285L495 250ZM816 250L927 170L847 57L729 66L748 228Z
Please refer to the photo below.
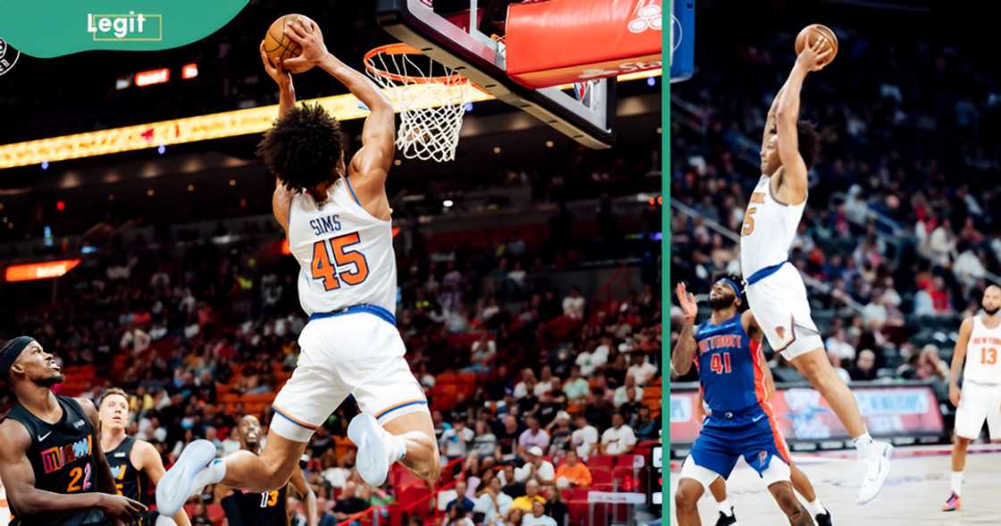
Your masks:
M247 415L236 425L240 438L240 449L254 455L260 453L260 421ZM318 523L316 495L306 484L302 469L292 470L288 484L281 488L261 493L251 493L230 488L225 484L215 485L215 502L222 504L226 520L230 525L240 526L288 526L288 486L302 497L306 505L306 525Z

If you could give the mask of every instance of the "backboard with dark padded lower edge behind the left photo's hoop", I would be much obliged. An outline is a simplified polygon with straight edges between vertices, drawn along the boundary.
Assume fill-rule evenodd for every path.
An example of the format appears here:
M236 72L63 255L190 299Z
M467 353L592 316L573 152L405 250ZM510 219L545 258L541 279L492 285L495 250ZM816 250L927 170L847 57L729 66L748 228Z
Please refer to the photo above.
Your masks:
M480 31L480 17L485 14L481 4L486 1L461 0L466 9L455 15L435 12L431 0L377 0L376 19L393 37L455 69L497 100L588 147L611 147L615 142L616 78L594 79L588 82L587 90L567 91L560 86L534 89L516 81L508 74L506 42ZM584 91L586 97L574 94Z

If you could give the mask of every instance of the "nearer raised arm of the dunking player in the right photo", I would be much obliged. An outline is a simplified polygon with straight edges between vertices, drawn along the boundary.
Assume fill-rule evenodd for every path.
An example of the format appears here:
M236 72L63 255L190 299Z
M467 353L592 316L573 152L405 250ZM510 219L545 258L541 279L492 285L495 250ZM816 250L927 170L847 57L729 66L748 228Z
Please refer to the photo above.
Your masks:
M797 124L800 118L800 92L807 73L819 71L825 65L832 48L824 38L818 38L813 45L805 48L799 57L789 79L781 91L775 121L779 135L779 158L782 160L783 174L780 197L787 203L800 203L807 194L807 165L800 155Z

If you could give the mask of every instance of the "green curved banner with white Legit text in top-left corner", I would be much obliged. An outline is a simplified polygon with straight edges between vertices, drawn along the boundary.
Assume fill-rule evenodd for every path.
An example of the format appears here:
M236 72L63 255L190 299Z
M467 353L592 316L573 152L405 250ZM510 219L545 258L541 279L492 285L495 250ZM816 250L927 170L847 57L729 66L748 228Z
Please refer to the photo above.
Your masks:
M0 0L0 39L37 58L156 51L214 33L247 0Z

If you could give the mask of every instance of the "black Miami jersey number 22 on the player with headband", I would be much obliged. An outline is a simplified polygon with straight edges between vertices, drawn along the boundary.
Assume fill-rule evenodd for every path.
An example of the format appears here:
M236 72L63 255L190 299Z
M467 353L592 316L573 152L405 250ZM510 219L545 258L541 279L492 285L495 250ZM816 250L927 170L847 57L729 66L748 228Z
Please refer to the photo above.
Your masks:
M83 408L69 397L57 396L63 416L49 424L31 414L20 404L7 418L20 422L31 435L28 460L35 473L35 487L52 493L96 492L97 460L94 455L100 444L95 443L94 427ZM93 510L59 520L22 517L11 504L12 526L91 526L110 524L105 515Z

